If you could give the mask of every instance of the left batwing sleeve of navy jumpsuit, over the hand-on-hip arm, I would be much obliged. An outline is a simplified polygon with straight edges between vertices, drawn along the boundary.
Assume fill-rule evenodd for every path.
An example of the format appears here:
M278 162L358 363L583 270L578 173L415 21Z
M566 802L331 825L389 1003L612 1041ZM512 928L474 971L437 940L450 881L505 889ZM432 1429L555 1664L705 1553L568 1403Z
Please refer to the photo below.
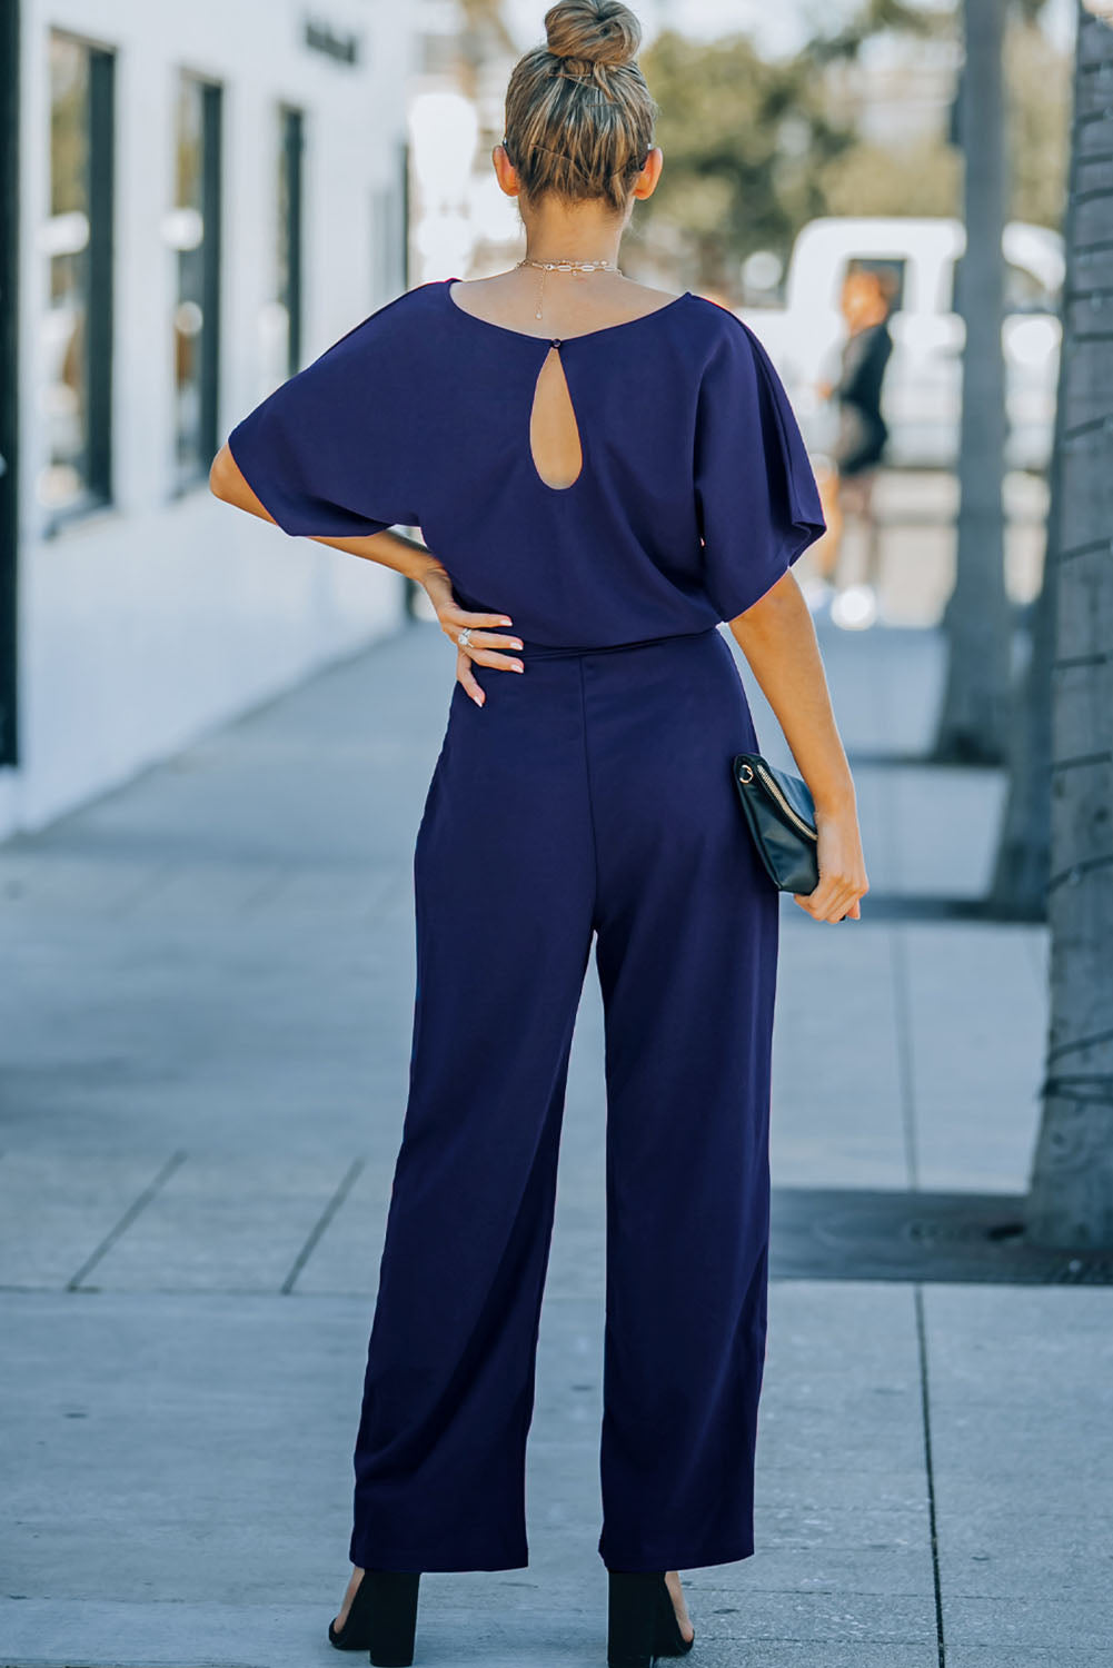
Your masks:
M407 335L390 305L370 314L229 434L284 532L359 539L421 525Z

